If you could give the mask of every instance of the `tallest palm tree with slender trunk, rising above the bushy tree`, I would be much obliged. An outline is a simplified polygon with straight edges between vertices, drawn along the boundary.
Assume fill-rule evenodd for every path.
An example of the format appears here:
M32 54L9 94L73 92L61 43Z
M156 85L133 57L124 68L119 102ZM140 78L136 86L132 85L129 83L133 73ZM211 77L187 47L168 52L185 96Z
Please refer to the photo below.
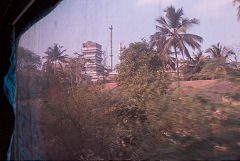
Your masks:
M172 53L175 55L178 86L180 86L178 54L181 53L183 58L186 56L191 60L192 58L186 45L190 46L193 50L200 50L200 43L203 41L203 38L187 33L187 30L192 25L199 24L199 21L195 18L183 18L182 8L175 10L173 6L170 6L164 12L166 12L166 19L159 17L156 20L159 25L156 25L157 32L151 36L151 42L160 52L159 55L165 55L165 58Z

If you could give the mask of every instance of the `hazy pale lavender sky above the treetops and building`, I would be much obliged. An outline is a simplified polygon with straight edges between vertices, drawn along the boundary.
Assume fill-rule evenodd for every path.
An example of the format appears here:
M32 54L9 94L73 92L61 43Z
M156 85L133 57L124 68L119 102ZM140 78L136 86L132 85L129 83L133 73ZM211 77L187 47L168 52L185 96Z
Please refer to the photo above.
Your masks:
M156 31L156 18L164 16L163 10L171 4L182 7L185 17L200 20L189 32L204 38L202 49L219 41L230 47L240 45L240 22L232 0L64 0L22 35L20 45L43 56L58 43L72 55L81 53L83 42L95 41L109 54L113 25L116 64L118 44L148 40Z

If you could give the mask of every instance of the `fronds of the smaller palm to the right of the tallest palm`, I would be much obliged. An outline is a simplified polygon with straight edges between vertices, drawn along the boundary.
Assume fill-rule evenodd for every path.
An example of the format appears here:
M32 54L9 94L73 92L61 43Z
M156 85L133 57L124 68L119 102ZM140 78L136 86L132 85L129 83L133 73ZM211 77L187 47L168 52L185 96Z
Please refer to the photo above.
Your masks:
M206 50L206 53L211 54L213 58L224 58L227 59L229 56L235 55L235 53L227 48L220 45L220 42L217 45L212 45L210 48Z

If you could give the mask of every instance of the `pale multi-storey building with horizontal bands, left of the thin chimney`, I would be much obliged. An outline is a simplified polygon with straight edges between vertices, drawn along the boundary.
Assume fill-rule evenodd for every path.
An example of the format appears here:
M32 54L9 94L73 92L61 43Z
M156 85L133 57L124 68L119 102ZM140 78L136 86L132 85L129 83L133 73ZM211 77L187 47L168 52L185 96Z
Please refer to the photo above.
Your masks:
M101 80L104 67L102 65L102 46L98 43L88 41L82 46L83 57L88 60L85 71L92 81Z

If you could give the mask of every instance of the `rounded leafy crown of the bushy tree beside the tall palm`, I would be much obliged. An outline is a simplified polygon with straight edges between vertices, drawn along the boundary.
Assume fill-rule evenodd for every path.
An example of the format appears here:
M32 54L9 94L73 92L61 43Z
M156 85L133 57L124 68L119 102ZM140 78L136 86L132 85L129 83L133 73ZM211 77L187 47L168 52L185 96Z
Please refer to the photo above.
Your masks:
M143 103L153 93L165 94L169 77L160 70L156 51L146 42L132 43L126 48L118 66L118 84L126 89L136 102Z

